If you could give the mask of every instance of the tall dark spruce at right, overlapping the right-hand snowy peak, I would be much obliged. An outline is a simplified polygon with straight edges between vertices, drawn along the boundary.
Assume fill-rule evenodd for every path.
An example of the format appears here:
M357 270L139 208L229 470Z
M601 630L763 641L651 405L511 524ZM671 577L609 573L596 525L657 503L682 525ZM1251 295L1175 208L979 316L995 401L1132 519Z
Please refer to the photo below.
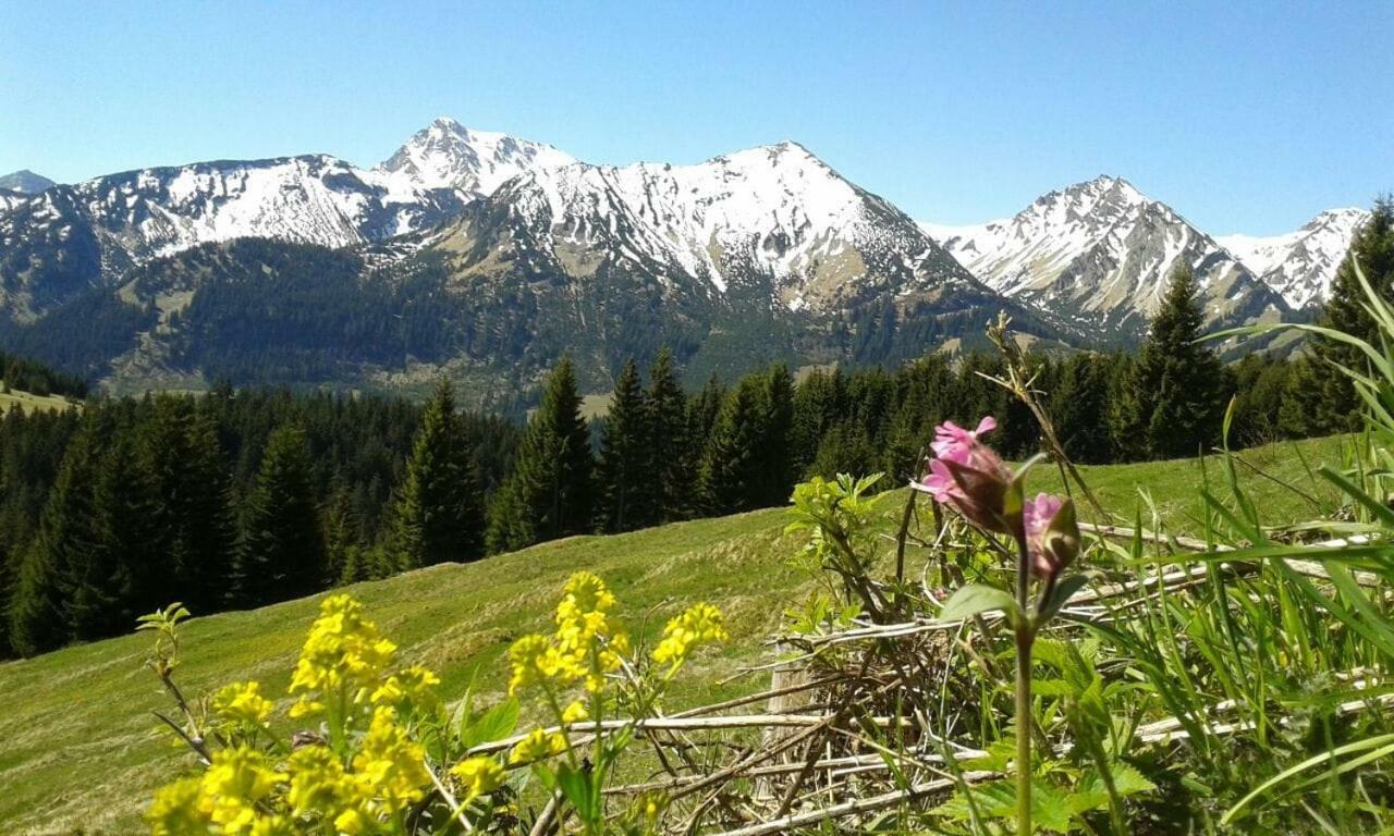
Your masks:
M1181 266L1138 355L1125 404L1132 414L1122 431L1140 429L1150 458L1195 456L1220 438L1224 369L1214 353L1197 343L1203 322L1195 277L1189 266Z

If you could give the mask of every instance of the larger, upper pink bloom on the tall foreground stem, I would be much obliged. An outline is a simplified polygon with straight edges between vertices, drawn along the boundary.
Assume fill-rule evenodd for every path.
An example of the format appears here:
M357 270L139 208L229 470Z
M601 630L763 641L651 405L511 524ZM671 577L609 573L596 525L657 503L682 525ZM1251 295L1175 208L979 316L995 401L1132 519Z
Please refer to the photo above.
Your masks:
M988 531L1015 534L1015 521L1004 517L1002 507L1012 471L979 440L994 429L997 419L991 415L972 431L952 421L934 428L930 472L912 486L933 495L935 502L952 503L959 513Z

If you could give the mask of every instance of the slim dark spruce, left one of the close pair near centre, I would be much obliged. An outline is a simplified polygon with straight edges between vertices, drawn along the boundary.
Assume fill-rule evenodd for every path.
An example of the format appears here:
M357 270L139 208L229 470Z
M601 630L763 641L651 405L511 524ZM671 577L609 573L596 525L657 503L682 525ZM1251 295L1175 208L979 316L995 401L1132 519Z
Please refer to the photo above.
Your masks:
M650 439L650 404L640 387L638 366L630 359L615 382L601 442L597 490L601 531L633 531L654 522L661 485L654 485L657 460Z

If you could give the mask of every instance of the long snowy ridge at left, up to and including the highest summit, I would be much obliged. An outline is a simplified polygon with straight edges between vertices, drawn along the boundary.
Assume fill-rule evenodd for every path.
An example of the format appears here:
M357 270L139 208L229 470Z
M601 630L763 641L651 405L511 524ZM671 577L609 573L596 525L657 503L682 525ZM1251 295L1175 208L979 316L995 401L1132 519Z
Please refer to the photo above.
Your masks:
M457 216L509 173L570 159L546 149L438 120L372 170L305 155L141 169L32 196L0 192L0 308L28 318L42 312L38 300L63 298L29 293L38 276L61 274L56 286L70 290L95 286L199 244L268 237L337 248L417 233ZM77 242L91 251L77 258Z

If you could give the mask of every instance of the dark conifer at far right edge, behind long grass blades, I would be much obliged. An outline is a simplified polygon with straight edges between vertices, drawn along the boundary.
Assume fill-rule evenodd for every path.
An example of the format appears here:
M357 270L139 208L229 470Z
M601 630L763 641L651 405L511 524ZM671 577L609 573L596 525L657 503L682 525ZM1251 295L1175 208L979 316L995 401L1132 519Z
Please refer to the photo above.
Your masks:
M1374 202L1369 220L1355 233L1351 248L1331 281L1322 325L1380 346L1380 329L1365 309L1365 290L1355 273L1359 265L1366 281L1386 301L1394 302L1394 196ZM1365 371L1365 355L1345 343L1319 337L1313 348L1322 359L1349 369ZM1361 425L1363 404L1351 380L1334 369L1322 375L1322 397L1310 404L1317 410L1310 422L1317 432L1354 431Z

